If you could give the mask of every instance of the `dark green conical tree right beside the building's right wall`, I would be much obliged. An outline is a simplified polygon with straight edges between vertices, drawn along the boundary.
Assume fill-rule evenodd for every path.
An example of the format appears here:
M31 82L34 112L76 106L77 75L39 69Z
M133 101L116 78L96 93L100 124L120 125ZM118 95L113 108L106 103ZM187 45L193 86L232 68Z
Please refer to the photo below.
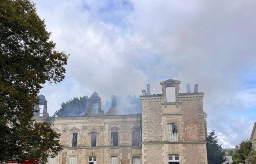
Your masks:
M206 141L208 164L221 164L224 161L225 152L222 151L221 145L218 144L218 138L214 130L209 132Z

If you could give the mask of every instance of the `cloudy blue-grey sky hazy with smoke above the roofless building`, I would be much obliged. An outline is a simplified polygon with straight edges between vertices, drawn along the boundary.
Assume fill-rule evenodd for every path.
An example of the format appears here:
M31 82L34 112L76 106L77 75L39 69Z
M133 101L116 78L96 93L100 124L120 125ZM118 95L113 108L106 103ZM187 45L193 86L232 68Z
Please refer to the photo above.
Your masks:
M33 0L59 51L63 82L44 85L52 115L62 102L97 91L161 93L166 79L199 83L223 148L249 138L256 121L256 1ZM193 87L191 88L193 90Z

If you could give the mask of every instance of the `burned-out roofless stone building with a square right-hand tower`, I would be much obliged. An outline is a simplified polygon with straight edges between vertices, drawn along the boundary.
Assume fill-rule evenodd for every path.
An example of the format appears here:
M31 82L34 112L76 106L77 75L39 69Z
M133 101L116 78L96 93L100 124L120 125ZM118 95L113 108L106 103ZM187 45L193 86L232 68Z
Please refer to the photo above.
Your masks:
M179 93L177 80L160 84L162 94L142 90L141 114L117 115L115 96L104 113L93 93L84 116L34 117L61 133L64 149L48 164L207 164L204 93L197 86ZM167 87L175 89L174 102L167 102Z

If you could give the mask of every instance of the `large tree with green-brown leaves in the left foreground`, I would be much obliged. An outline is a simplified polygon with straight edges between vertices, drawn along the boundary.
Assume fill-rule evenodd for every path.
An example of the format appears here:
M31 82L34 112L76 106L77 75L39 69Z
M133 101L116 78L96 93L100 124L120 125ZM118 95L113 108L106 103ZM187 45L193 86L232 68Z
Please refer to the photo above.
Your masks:
M45 163L61 150L59 134L32 119L42 85L64 79L68 55L56 51L49 37L35 4L0 0L0 163Z

